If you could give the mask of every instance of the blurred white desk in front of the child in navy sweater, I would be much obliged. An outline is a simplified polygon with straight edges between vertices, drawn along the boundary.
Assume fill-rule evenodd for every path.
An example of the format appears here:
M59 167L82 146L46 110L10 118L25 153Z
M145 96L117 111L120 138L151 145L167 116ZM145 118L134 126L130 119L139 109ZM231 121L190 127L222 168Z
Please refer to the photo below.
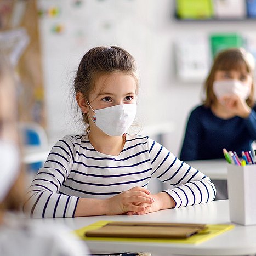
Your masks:
M210 179L227 179L227 162L225 159L185 161L190 166L200 170Z

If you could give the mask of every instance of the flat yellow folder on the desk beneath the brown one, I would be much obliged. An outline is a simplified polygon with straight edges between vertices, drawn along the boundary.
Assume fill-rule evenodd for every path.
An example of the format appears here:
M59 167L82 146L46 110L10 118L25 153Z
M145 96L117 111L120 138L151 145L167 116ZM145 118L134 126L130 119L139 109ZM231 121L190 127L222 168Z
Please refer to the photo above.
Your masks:
M127 241L127 242L159 242L159 243L187 243L187 244L198 244L206 241L212 237L220 235L223 232L233 229L235 226L231 224L210 224L206 225L206 228L198 231L197 234L187 238L145 238L145 237L92 237L86 236L86 232L99 230L101 227L112 223L112 221L98 221L89 226L82 227L81 229L75 230L75 234L78 235L82 240L85 241ZM184 224L182 224L184 225ZM92 232L93 233L93 232Z

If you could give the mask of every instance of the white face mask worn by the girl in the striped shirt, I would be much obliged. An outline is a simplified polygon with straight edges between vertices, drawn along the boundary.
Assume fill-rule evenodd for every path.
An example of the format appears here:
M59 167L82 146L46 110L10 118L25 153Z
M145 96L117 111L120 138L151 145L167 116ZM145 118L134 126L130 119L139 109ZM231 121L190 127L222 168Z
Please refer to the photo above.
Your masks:
M93 119L89 117L98 128L109 136L121 136L126 133L134 121L137 110L136 104L122 104L98 110L90 107L94 111L94 115Z

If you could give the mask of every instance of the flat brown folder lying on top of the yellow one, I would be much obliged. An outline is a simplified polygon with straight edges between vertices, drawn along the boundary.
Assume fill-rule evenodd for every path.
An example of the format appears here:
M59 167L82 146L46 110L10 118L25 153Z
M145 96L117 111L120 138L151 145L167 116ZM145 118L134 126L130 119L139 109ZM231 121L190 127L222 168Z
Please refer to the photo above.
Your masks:
M98 229L88 230L87 237L127 237L127 238L188 238L208 227L204 224L186 223L145 223L109 222Z

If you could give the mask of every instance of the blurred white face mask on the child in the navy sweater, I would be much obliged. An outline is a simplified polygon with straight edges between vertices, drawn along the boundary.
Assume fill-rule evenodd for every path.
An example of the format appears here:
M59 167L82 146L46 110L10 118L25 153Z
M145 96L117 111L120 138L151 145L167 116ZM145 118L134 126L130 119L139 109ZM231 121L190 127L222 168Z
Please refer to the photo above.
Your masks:
M238 95L246 100L251 92L251 86L240 82L239 80L223 80L213 82L213 92L217 99L223 96Z

